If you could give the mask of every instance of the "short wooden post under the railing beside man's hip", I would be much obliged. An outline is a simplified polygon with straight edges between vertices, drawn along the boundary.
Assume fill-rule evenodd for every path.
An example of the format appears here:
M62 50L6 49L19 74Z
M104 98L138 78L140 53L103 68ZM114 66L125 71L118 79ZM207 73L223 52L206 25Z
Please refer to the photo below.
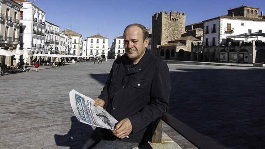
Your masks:
M154 123L152 123L152 138L151 143L161 143L162 142L162 120L157 118Z

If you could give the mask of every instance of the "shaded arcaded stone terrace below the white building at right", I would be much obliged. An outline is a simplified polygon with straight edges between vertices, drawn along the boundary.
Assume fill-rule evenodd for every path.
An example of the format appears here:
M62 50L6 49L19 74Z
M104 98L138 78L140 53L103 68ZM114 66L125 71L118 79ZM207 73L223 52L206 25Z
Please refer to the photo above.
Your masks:
M192 54L197 59L193 61L215 61L222 63L264 63L265 42L239 42L224 45L205 47L193 45Z

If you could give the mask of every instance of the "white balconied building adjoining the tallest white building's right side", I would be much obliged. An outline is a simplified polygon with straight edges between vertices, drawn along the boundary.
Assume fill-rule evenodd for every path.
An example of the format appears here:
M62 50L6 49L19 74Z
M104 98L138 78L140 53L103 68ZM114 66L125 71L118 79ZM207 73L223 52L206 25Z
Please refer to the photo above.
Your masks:
M60 26L45 21L45 52L60 53Z

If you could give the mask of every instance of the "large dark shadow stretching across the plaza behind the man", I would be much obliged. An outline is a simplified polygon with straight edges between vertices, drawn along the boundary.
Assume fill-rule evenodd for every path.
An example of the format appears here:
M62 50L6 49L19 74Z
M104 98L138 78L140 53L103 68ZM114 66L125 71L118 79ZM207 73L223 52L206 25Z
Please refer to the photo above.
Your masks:
M226 147L265 147L265 69L177 70L168 113Z

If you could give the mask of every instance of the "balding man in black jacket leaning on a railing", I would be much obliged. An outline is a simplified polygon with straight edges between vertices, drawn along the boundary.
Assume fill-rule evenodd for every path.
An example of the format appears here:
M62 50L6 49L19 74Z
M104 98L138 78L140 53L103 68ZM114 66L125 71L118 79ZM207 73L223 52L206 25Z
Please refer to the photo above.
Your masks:
M114 61L101 95L94 99L95 106L104 107L119 123L113 131L101 129L96 149L137 147L147 126L169 108L169 70L146 50L148 30L130 24L123 36L126 54Z

